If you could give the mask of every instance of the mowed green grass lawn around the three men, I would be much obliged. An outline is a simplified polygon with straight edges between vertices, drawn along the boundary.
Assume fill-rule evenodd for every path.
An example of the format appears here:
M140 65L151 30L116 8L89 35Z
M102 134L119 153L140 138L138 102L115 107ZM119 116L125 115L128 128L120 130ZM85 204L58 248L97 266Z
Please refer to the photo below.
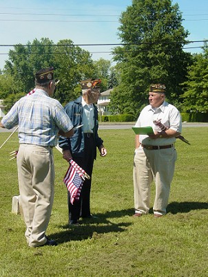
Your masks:
M92 176L94 221L67 225L67 162L54 148L56 186L48 236L56 247L30 248L25 224L11 213L19 195L17 134L0 149L0 276L208 276L208 129L184 128L191 145L176 142L178 160L167 215L135 219L132 168L134 133L100 130L107 156L98 155ZM2 144L10 133L0 133ZM152 184L152 203L154 202Z

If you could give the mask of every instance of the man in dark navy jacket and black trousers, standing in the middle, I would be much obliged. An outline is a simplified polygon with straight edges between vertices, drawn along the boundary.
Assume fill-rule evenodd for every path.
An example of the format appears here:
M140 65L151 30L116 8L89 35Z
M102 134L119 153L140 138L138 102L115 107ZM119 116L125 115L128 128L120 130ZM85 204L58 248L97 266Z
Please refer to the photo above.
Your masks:
M96 159L96 147L105 156L107 151L103 140L98 136L98 111L94 103L100 96L100 79L81 81L82 96L69 102L65 111L74 125L74 135L70 138L59 137L59 146L63 148L63 159L67 162L73 159L90 179L85 179L79 201L70 202L70 192L67 195L69 223L79 225L79 218L90 219L90 189L92 169ZM76 129L76 126L80 126Z

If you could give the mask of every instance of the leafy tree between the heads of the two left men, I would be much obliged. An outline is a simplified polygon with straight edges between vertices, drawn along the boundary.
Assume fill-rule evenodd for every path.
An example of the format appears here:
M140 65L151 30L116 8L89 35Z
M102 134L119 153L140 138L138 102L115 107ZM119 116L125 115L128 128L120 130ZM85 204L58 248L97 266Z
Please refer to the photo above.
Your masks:
M55 52L55 76L60 80L55 97L65 105L80 95L79 82L85 78L92 78L93 60L90 52L74 46L71 40L59 41Z

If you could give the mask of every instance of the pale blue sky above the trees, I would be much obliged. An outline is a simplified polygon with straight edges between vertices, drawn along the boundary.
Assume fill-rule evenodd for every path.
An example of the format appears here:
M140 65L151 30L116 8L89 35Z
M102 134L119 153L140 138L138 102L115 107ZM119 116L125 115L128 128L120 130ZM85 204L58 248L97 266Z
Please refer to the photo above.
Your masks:
M172 0L174 3L183 13L189 41L207 40L208 0ZM98 44L121 43L118 19L128 5L132 0L0 0L0 69L14 49L10 45L25 45L35 38L49 38L54 44L70 39L92 53L94 60L111 60L114 46ZM202 45L191 43L185 51L202 52Z

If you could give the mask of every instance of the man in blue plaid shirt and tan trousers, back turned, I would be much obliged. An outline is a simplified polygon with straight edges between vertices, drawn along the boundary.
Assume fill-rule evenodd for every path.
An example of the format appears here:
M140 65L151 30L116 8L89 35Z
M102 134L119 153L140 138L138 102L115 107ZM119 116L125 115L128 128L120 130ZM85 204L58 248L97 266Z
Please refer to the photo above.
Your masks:
M0 126L19 125L17 168L25 237L30 247L56 245L45 236L54 199L54 158L52 147L58 135L70 137L74 129L70 118L53 95L54 69L43 68L35 74L36 90L17 101Z

